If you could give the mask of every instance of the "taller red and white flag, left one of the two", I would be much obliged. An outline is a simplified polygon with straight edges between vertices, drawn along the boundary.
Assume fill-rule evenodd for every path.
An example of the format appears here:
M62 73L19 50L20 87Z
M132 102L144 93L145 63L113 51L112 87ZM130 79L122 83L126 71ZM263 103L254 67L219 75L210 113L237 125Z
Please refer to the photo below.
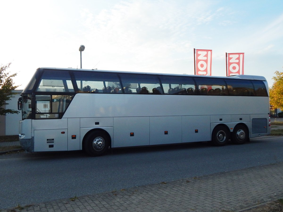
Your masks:
M195 75L211 76L212 50L194 49L195 52Z

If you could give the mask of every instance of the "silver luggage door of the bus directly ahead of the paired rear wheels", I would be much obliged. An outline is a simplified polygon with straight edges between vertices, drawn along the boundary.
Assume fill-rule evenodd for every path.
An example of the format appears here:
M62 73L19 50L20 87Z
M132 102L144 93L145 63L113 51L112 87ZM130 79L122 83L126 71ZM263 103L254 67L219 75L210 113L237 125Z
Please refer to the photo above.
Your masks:
M211 140L210 116L182 116L182 142Z

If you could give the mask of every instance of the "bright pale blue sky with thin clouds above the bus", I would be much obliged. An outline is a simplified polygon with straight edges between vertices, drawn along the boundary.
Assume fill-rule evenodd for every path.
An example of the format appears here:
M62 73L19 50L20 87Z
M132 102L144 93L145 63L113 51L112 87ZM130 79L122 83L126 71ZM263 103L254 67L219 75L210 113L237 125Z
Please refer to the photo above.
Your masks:
M194 48L245 53L244 73L283 72L282 0L0 0L0 65L23 89L39 67L194 74Z

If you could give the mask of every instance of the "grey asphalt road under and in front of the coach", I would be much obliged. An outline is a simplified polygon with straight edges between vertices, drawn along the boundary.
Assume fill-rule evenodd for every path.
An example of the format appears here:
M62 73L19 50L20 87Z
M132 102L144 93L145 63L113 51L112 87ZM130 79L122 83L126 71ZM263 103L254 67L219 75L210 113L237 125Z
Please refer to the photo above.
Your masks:
M283 161L283 137L244 145L185 145L82 152L0 155L0 209L84 196Z

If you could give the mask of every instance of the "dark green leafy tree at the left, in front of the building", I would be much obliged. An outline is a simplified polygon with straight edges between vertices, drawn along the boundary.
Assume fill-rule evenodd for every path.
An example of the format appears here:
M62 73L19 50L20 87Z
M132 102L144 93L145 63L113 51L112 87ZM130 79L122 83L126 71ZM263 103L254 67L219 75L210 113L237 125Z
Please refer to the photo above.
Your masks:
M3 106L8 105L8 100L10 100L11 96L15 94L12 92L15 90L18 86L14 85L13 77L17 74L11 74L9 72L6 72L6 69L9 68L11 63L8 63L7 65L0 65L0 115L6 115L7 113L20 113L19 111L11 110L11 109L5 109Z

